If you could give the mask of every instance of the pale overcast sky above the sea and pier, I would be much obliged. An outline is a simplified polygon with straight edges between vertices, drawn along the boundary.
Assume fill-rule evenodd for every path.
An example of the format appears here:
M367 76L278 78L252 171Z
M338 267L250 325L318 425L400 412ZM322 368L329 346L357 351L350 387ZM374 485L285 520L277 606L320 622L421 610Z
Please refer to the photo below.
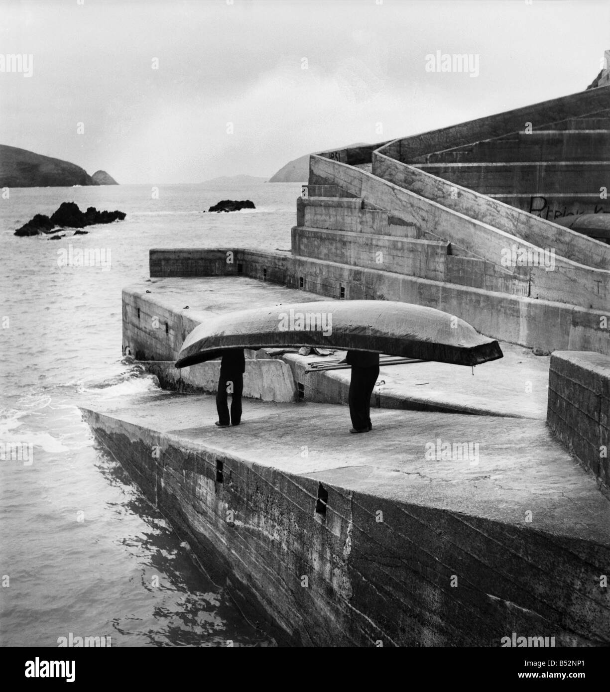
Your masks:
M582 91L610 48L608 0L380 1L0 0L1 53L33 55L0 71L0 143L120 183L271 176Z

